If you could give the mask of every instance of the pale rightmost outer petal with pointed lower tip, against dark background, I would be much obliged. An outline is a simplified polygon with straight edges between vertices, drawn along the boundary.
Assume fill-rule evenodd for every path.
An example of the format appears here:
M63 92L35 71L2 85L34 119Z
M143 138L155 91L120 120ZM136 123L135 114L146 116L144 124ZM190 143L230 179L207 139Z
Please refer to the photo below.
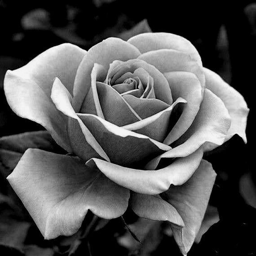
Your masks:
M206 88L221 98L231 117L231 125L225 141L229 140L234 134L238 134L246 143L245 130L249 109L243 96L215 72L207 68L203 68L203 71L206 78Z

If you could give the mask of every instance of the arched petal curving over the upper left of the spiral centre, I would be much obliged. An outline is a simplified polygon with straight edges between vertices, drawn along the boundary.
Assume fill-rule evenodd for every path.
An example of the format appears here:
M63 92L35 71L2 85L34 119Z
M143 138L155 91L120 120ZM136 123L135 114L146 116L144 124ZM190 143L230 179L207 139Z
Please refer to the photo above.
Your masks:
M79 65L75 76L74 98L72 102L74 109L76 111L80 110L84 98L91 87L90 75L94 63L101 64L108 69L109 64L114 60L126 61L137 58L139 55L140 52L136 47L118 38L108 38L89 49Z

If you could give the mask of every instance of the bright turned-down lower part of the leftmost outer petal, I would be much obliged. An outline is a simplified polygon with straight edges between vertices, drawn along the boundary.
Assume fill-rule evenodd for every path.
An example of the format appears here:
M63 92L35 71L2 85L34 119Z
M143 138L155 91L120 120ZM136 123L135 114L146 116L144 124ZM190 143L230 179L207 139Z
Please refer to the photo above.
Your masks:
M16 71L7 71L4 91L9 106L17 115L41 124L57 144L68 152L72 151L66 132L66 116L56 109L35 81L19 76Z

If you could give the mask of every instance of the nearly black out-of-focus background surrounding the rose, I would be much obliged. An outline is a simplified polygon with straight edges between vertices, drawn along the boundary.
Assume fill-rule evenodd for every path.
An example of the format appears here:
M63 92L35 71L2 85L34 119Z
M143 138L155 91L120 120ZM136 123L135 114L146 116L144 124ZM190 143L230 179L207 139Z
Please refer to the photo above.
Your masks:
M205 156L218 173L211 203L218 208L220 221L203 235L201 242L194 245L188 255L256 255L256 202L252 203L252 199L256 198L253 161L256 4L252 1L234 1L232 4L225 1L204 1L202 4L197 1L178 3L163 0L1 0L0 137L42 129L40 125L21 119L10 110L3 91L4 74L8 69L23 66L42 51L64 42L89 49L108 36L119 36L143 19L147 19L153 32L170 32L190 40L202 57L203 66L216 71L237 89L250 108L247 145L238 136L234 136L225 145ZM242 183L242 179L246 181ZM244 190L249 184L252 186L251 194L245 196ZM0 192L8 195L3 191L2 187ZM4 212L4 207L0 203L0 223L4 223L5 215L1 215L1 211ZM128 222L132 222L132 214L127 215ZM118 234L124 232L122 222L114 221L109 228L107 225L97 236L92 235L90 253L93 256L141 255L139 252L130 252L116 242L117 231L114 235L113 225ZM7 231L0 228L0 235L3 232ZM12 234L12 231L8 232ZM36 251L38 255L53 255L49 250L52 250L55 242L43 241L33 225L28 237L31 234L35 240L26 241L25 244L44 248L44 252L40 251L40 254ZM180 255L172 238L162 233L159 236L161 241L148 255ZM8 255L9 252L14 255L33 255L20 247L17 249L15 246L7 246L1 239L0 236L0 255ZM90 255L87 250L87 247L80 246L75 255Z

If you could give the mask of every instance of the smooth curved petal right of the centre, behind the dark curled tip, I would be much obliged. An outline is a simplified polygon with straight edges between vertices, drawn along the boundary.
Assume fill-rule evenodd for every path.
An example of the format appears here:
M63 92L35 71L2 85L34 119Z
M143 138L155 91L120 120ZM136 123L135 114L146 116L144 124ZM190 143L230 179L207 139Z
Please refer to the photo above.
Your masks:
M174 99L182 97L187 101L177 123L174 125L164 143L170 145L190 127L202 102L202 87L197 77L190 72L169 72L164 74L172 90Z

